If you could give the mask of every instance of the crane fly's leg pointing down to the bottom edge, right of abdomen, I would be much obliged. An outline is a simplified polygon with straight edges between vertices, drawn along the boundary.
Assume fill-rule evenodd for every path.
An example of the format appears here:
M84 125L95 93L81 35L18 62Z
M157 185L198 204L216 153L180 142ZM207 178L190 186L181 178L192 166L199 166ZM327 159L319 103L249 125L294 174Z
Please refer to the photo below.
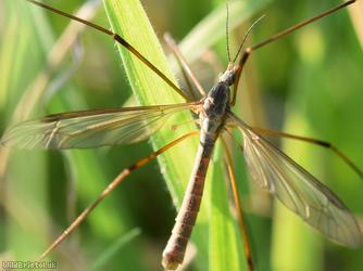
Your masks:
M236 181L236 177L235 177L235 167L234 167L234 164L233 164L231 154L229 152L228 145L227 145L226 141L223 139L223 137L221 137L221 139L222 139L222 143L224 145L225 159L226 159L226 166L227 166L227 170L228 170L228 175L229 175L230 188L231 188L235 206L236 206L237 214L238 214L238 223L239 223L240 233L242 235L246 260L247 260L248 269L250 271L252 271L252 270L254 270L254 264L253 264L253 260L252 260L252 249L251 249L248 232L247 232L247 229L246 229L246 225L245 225L245 216L243 216L241 201L239 198L239 194L238 194L238 190L237 190L237 181Z

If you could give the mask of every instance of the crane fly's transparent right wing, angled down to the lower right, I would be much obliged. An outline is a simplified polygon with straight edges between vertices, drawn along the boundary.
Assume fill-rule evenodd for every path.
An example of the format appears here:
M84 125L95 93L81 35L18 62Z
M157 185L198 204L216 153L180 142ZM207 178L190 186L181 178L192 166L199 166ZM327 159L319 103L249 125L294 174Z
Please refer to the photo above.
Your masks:
M245 158L255 182L330 238L349 247L362 244L356 220L328 188L235 115L230 119L243 134Z

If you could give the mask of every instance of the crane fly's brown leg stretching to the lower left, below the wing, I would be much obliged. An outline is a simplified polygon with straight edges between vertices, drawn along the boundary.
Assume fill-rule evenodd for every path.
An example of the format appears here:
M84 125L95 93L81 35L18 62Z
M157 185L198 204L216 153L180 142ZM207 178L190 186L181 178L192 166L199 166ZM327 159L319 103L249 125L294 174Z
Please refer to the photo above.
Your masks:
M199 134L199 131L187 133L176 140L173 140L162 149L159 149L158 151L149 154L148 156L143 157L142 159L139 159L135 164L130 165L129 167L125 168L102 192L101 194L91 203L73 222L72 224L62 232L62 234L40 255L40 257L37 259L37 261L42 260L49 253L51 253L60 243L62 243L79 224L83 222L86 217L91 212L99 203L108 196L127 176L129 176L133 171L136 169L142 167L143 165L151 162L153 158L159 156L160 154L164 153L172 146L178 144L183 140L190 138L192 136Z

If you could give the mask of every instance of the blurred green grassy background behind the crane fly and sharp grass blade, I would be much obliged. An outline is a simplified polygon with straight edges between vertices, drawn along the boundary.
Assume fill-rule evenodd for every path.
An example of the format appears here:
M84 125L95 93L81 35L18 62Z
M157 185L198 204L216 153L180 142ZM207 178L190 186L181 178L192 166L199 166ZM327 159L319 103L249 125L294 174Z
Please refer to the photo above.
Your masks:
M84 1L47 3L74 12ZM247 27L262 14L266 17L254 28L249 43L338 3L261 0L255 1L255 7L246 4L253 10L253 16L241 18L240 28L230 30L231 51L236 51L234 41L238 43ZM225 1L208 0L149 0L142 4L157 34L162 37L170 31L177 40L183 40L214 9L225 9ZM363 9L358 4L354 8L362 16ZM92 22L109 28L102 4ZM45 68L52 43L68 23L22 0L0 2L1 131L9 125L22 93ZM329 141L363 168L360 27L362 24L352 25L345 10L255 52L245 69L236 112L253 125ZM224 33L223 23L218 28ZM221 35L212 50L202 55L212 59L213 66L226 64L224 38ZM74 56L70 53L54 68L48 94L35 100L35 109L26 118L121 106L129 101L132 91L125 72L108 37L88 29L80 35L79 44L71 49L74 50L84 51L76 60L77 70L71 70ZM197 75L206 78L199 64L193 65ZM60 78L67 77L70 70L72 77L63 85ZM54 87L60 82L61 88ZM50 89L58 91L49 95ZM25 99L25 104L29 101ZM346 164L318 146L291 140L274 142L324 180L356 214L362 225L363 183ZM7 150L1 150L0 173L5 178L0 182L0 259L36 258L114 176L151 151L148 142L62 153L14 151L7 163ZM238 159L239 181L246 183L242 157ZM249 193L241 194L259 270L363 269L362 248L351 250L333 244L285 207L274 204L259 188L252 185ZM171 197L154 162L129 177L52 257L62 270L161 270L161 253L174 217ZM198 256L188 270L208 267L208 258ZM195 264L196 261L206 263Z

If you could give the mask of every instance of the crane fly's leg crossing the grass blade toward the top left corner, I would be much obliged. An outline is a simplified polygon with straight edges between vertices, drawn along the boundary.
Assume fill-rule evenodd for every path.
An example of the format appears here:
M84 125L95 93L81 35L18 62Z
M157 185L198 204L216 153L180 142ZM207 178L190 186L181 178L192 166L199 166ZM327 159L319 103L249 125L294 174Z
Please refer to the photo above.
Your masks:
M191 102L189 100L189 98L183 92L183 90L180 90L171 79L168 79L158 67L155 67L148 59L146 59L142 54L140 54L132 44L129 44L125 39L123 39L118 34L110 31L109 29L96 25L91 22L85 21L80 17L74 16L72 14L65 13L63 11L57 10L50 5L40 3L38 1L35 0L26 0L28 2L32 2L36 5L39 5L46 10L49 10L53 13L57 13L59 15L62 15L64 17L77 21L82 24L85 24L98 31L101 31L108 36L110 36L114 41L118 42L120 44L122 44L124 48L126 48L130 53L133 53L136 57L138 57L142 63L145 63L150 69L152 69L158 76L160 76L168 86L171 86L177 93L179 93L179 95L182 95L187 102Z

